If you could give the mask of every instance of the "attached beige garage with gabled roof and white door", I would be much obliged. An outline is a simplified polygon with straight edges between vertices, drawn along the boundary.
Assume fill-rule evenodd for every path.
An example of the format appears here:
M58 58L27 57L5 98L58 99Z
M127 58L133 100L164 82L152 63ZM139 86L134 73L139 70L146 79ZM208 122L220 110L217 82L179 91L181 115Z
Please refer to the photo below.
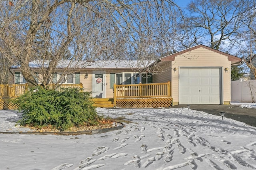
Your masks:
M154 83L171 82L172 105L230 104L231 66L242 59L205 45L196 45L158 61L162 73Z

